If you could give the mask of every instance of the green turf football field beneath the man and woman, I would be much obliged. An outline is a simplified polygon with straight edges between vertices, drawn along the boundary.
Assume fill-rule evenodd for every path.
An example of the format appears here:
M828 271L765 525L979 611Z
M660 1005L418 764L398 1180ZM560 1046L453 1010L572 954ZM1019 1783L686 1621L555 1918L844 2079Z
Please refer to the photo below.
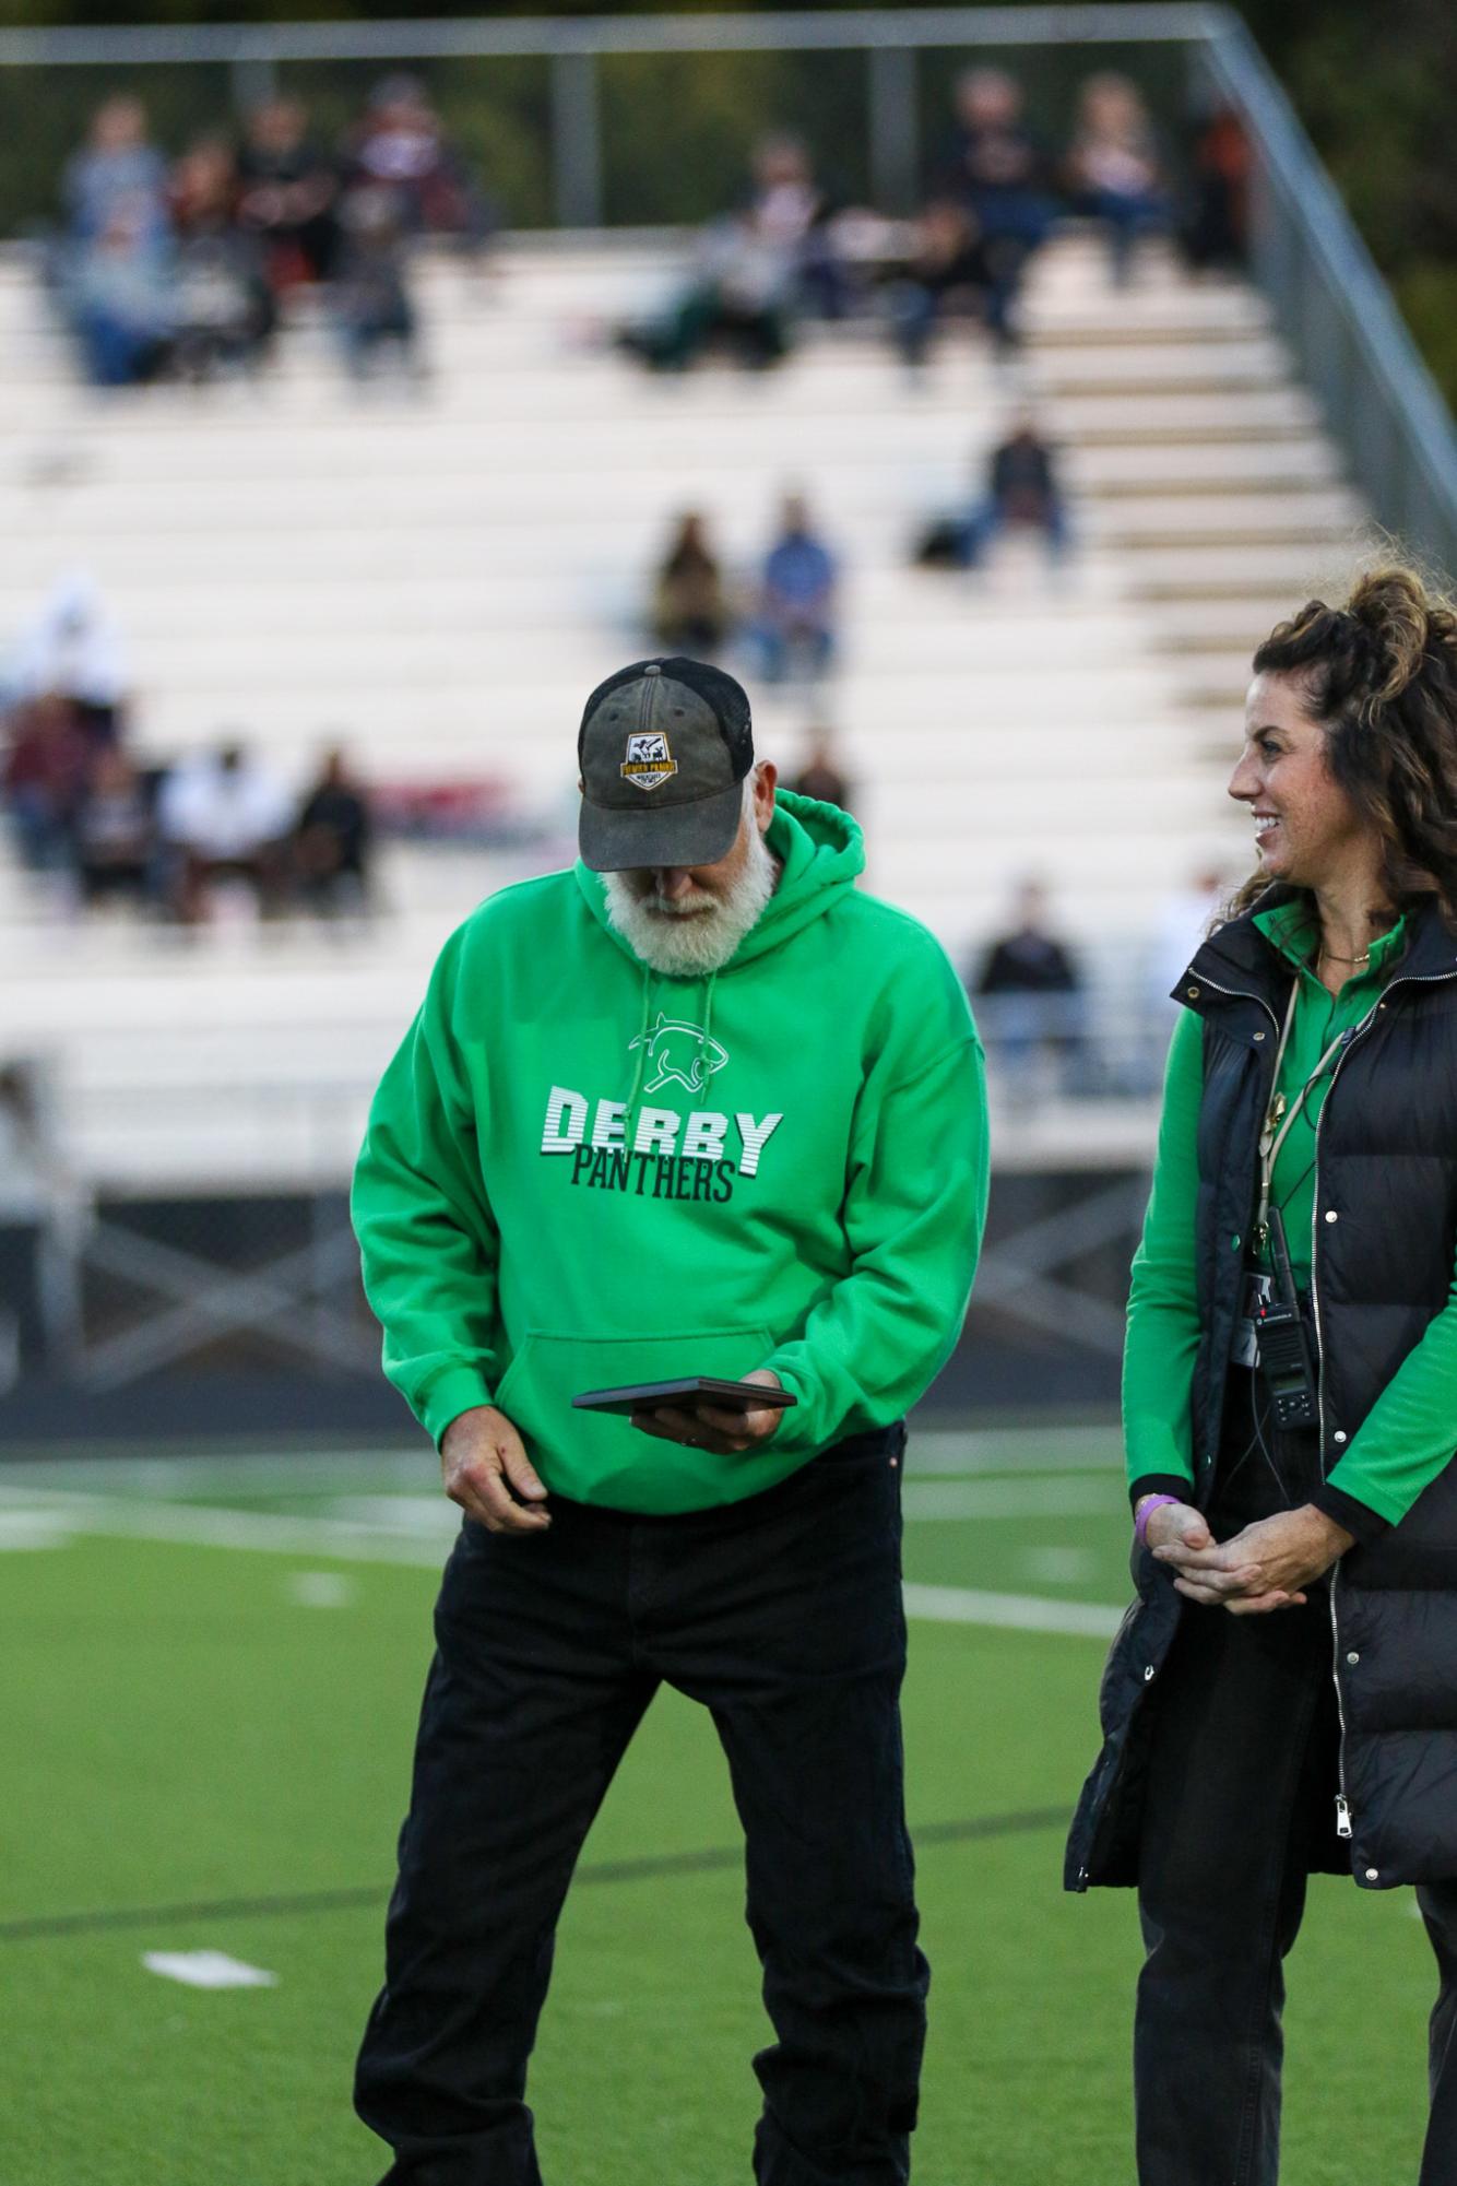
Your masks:
M0 2186L380 2177L350 2068L450 1530L428 1449L0 1469ZM1125 1548L1105 1434L913 1443L924 2186L1132 2179L1134 1904L1059 1887ZM275 1978L144 1965L197 1950ZM756 1976L719 1751L666 1694L568 1904L533 2077L550 2186L749 2177ZM1313 1884L1293 2186L1415 2177L1429 1991L1409 1891Z

